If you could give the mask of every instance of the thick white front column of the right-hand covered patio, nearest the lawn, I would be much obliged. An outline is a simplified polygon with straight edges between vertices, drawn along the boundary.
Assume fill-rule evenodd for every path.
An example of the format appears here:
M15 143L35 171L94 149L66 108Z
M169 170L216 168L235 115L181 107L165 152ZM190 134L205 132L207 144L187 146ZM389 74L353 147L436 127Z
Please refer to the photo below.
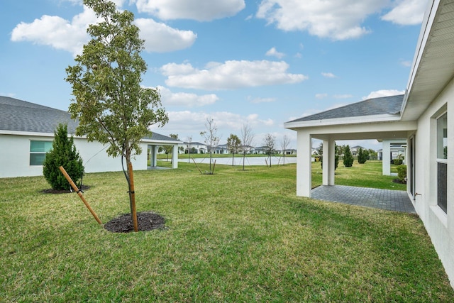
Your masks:
M297 131L297 196L311 197L312 142L307 131Z

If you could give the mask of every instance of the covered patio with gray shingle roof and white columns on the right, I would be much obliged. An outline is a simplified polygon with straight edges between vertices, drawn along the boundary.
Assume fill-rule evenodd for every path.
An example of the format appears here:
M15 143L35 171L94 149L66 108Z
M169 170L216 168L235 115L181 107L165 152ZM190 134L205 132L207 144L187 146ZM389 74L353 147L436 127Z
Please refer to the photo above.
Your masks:
M312 139L323 141L322 185L333 186L336 141L411 138L416 123L400 119L403 101L404 95L367 99L284 123L285 128L297 131L297 196L312 197ZM413 173L409 145L407 175ZM389 160L383 161L389 165Z

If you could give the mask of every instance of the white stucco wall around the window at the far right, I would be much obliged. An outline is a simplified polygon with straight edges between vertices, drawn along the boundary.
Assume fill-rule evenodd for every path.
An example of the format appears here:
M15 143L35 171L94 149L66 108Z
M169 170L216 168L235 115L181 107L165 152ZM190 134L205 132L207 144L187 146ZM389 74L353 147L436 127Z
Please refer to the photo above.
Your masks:
M437 206L436 121L448 109L448 214ZM454 287L454 81L418 120L415 208Z

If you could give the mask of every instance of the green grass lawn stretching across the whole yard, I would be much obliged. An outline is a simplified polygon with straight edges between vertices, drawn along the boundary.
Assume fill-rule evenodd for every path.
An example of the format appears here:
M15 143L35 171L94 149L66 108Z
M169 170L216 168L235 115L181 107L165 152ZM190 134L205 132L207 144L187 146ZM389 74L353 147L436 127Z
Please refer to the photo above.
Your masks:
M295 175L135 172L138 211L167 228L128 234L76 194L41 193L43 177L0 179L0 302L453 302L417 216L296 197ZM84 183L104 223L128 212L122 172Z

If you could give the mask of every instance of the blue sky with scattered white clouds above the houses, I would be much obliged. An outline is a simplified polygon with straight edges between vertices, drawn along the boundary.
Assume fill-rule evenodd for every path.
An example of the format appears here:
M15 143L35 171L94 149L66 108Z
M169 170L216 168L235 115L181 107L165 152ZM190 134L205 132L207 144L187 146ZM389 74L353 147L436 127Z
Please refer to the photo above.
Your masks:
M145 39L146 87L170 122L157 133L221 143L247 123L291 139L283 123L368 97L403 93L427 0L116 0ZM67 110L65 68L96 22L79 0L1 0L0 95ZM342 144L343 142L341 142ZM378 149L376 141L348 141Z

